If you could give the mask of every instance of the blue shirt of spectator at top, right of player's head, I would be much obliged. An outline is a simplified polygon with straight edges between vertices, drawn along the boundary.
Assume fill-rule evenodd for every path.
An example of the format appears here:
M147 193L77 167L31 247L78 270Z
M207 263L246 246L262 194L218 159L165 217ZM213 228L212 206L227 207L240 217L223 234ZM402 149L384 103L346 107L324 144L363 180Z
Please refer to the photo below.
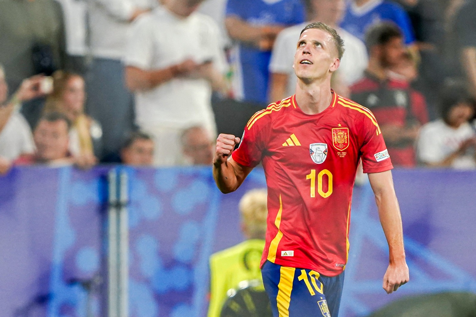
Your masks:
M362 2L362 1L361 1ZM365 40L368 27L381 22L392 21L402 30L405 44L415 42L415 34L407 12L397 3L388 0L367 0L357 5L353 0L347 5L346 14L340 26L360 40Z

